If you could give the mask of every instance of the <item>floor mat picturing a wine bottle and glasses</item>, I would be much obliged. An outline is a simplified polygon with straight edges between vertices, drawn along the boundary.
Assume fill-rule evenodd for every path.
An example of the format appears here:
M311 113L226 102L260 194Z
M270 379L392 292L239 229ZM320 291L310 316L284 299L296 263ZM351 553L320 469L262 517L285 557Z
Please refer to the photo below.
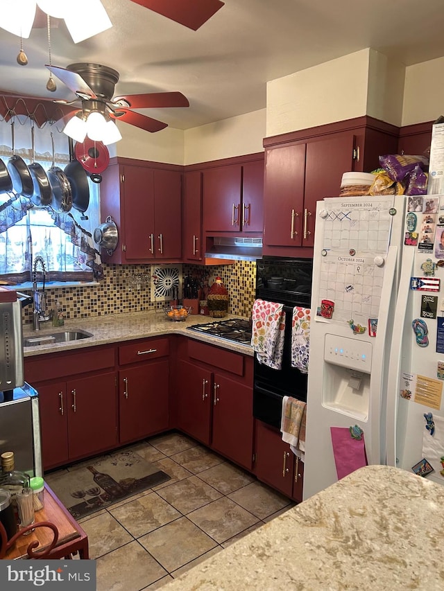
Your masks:
M137 453L124 450L50 474L46 482L69 513L80 519L169 479Z

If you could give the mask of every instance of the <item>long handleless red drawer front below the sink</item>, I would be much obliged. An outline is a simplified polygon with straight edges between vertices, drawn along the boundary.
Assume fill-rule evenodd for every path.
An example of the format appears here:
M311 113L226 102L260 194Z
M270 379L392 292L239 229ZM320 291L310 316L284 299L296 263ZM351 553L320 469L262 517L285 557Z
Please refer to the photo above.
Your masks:
M44 382L55 378L67 378L88 371L114 368L114 347L100 349L89 347L82 351L50 353L25 358L26 382Z

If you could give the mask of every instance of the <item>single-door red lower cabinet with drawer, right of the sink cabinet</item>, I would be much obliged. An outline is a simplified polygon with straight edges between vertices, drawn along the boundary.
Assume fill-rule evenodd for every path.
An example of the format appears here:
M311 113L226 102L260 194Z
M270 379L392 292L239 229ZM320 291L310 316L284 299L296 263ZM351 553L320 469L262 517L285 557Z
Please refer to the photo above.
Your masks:
M169 339L119 346L119 443L169 426Z

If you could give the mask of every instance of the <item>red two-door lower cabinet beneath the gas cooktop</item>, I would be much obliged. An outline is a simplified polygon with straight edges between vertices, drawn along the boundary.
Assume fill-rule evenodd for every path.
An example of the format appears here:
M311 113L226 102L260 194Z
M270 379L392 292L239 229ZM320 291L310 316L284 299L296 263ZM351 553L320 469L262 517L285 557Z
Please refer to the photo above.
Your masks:
M251 470L253 359L187 339L176 371L175 426Z

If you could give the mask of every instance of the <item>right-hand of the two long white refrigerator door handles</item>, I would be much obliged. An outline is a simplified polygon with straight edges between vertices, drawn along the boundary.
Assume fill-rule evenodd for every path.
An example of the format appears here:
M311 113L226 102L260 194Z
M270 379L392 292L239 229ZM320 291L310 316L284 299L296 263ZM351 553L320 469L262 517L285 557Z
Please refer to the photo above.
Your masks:
M389 358L390 372L387 380L387 401L386 401L386 464L396 466L396 414L398 410L398 396L400 389L400 369L402 339L404 338L405 313L409 300L410 278L413 272L413 261L415 260L415 249L413 247L404 249L402 254L402 269L400 276L400 288L396 300L395 317L393 326L393 339Z

